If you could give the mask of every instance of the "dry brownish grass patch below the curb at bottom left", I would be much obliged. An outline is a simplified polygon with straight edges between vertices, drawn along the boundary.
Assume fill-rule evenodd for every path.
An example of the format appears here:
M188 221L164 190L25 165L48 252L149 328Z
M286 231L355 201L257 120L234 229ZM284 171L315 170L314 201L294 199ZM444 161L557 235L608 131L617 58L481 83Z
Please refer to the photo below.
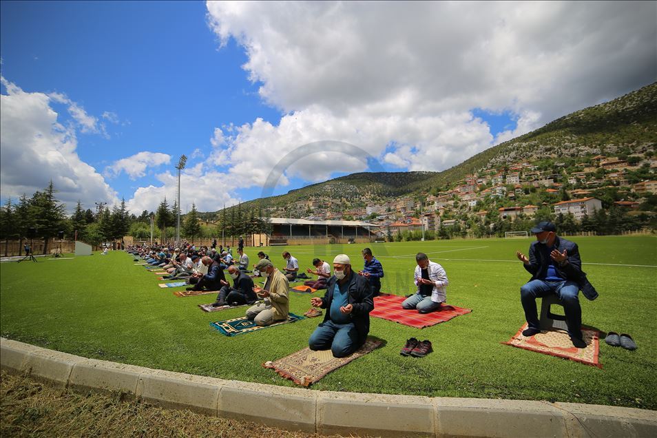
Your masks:
M324 437L0 375L2 437ZM333 435L337 437L338 435Z

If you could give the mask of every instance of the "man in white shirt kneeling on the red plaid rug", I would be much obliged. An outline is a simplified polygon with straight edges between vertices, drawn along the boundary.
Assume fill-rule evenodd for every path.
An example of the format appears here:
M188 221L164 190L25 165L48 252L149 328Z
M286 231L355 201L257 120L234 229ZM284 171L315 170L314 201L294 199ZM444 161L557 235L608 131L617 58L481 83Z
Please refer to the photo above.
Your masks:
M429 260L425 253L415 255L415 286L417 292L401 303L404 309L417 309L418 313L437 310L447 300L446 287L449 284L445 269Z

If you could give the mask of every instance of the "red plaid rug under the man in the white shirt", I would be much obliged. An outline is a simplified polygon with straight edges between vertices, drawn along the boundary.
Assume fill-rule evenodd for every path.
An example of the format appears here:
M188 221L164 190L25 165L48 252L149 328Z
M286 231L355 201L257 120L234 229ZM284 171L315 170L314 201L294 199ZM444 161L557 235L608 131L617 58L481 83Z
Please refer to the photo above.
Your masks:
M404 297L382 293L374 297L374 310L370 312L370 316L381 318L382 320L399 322L399 324L404 324L405 326L424 328L472 312L472 309L441 304L436 311L419 313L415 309L401 309L401 302L404 302L404 300L406 300Z

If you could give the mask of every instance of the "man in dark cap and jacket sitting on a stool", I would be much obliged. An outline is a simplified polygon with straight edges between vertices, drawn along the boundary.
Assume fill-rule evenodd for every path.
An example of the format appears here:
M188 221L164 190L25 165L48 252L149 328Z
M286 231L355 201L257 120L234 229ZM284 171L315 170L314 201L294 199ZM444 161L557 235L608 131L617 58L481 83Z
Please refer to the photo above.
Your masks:
M532 233L536 241L530 245L529 258L520 251L516 253L523 267L532 274L530 281L520 288L520 300L528 324L523 335L541 333L536 298L555 293L563 305L572 344L585 348L581 331L582 308L577 295L581 289L586 298L595 300L598 293L582 271L577 244L556 236L552 222L540 222L532 228Z

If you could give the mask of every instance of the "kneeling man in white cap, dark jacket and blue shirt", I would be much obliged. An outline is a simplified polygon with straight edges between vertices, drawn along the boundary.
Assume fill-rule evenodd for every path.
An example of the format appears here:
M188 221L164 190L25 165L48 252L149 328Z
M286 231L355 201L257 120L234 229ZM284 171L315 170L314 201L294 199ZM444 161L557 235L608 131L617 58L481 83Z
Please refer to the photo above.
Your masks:
M333 271L324 298L311 299L313 306L329 310L322 324L315 328L308 346L311 350L331 348L334 357L345 357L365 343L374 302L369 282L351 269L348 255L335 256Z

